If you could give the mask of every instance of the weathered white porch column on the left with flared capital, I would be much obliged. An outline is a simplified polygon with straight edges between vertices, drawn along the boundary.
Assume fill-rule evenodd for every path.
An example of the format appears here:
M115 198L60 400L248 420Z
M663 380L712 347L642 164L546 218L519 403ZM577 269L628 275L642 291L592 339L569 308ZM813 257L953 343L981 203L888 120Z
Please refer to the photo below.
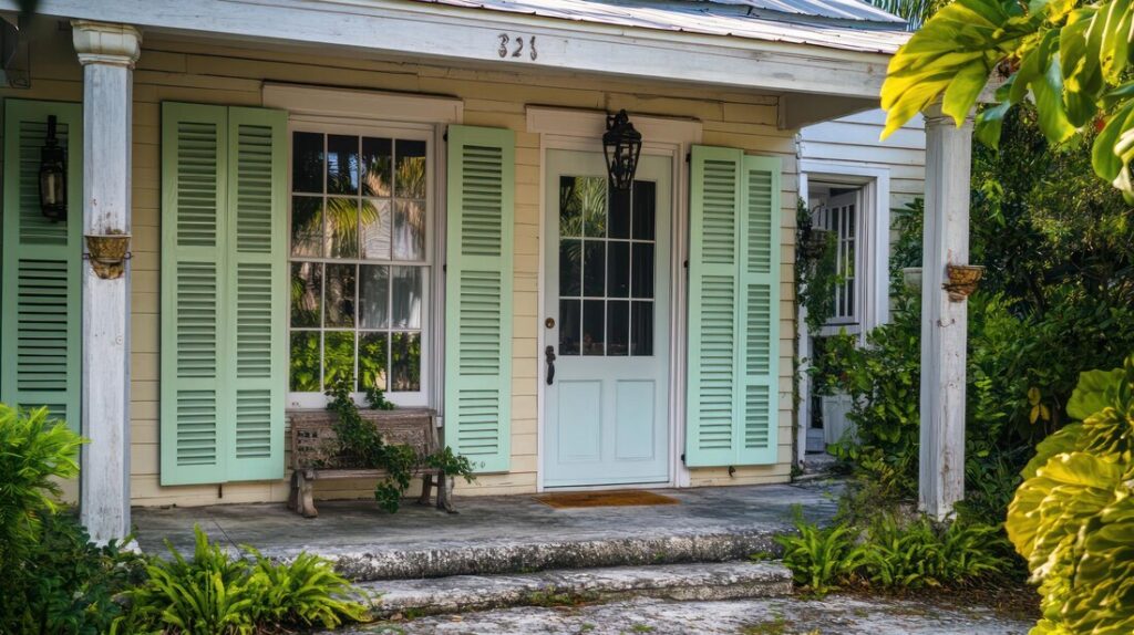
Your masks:
M130 231L132 26L74 20L83 65L83 232ZM79 512L96 542L130 531L130 267L103 280L83 264L83 447Z

